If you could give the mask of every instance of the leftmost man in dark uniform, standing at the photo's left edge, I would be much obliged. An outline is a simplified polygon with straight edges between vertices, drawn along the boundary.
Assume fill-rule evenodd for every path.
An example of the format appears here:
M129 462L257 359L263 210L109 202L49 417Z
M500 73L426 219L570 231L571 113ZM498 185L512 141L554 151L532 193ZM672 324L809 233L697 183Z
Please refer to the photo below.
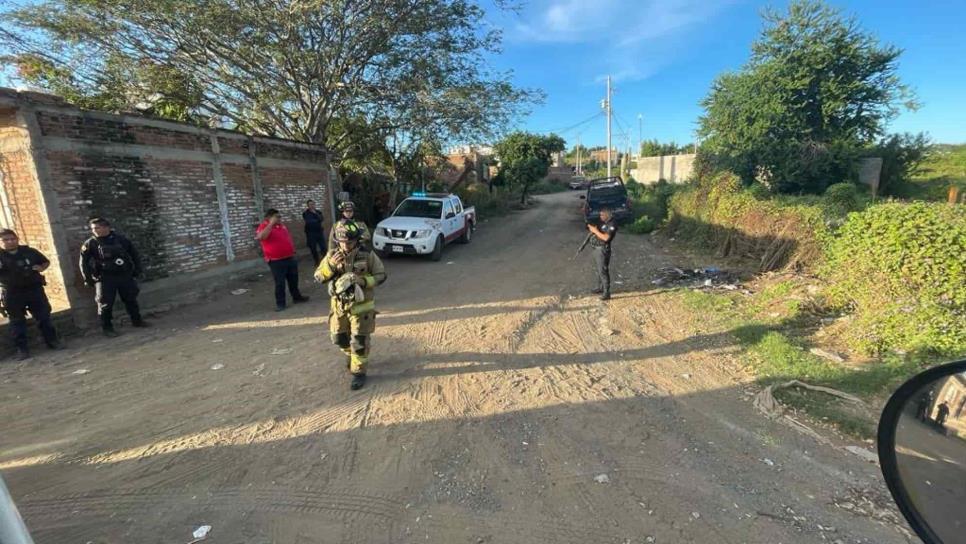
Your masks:
M61 349L50 321L50 301L44 292L44 270L50 260L30 246L20 245L17 233L0 230L0 313L10 318L17 359L30 358L27 348L27 312L34 317L50 349Z

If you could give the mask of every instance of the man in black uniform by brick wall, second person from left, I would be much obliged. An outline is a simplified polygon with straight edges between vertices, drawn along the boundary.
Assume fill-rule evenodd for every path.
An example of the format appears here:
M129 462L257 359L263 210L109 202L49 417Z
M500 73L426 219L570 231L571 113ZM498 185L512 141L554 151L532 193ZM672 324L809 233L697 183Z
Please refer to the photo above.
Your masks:
M81 276L85 284L94 286L104 336L117 336L112 318L118 295L131 317L131 325L146 327L138 307L140 289L135 280L141 275L141 256L127 238L114 232L107 219L95 217L89 224L93 236L81 246Z

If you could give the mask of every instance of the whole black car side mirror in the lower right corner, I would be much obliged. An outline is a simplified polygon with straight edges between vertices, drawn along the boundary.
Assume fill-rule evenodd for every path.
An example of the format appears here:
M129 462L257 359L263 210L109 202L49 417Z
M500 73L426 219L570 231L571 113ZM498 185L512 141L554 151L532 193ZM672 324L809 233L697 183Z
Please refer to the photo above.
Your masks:
M879 419L879 464L889 492L927 544L966 534L966 360L902 385Z

